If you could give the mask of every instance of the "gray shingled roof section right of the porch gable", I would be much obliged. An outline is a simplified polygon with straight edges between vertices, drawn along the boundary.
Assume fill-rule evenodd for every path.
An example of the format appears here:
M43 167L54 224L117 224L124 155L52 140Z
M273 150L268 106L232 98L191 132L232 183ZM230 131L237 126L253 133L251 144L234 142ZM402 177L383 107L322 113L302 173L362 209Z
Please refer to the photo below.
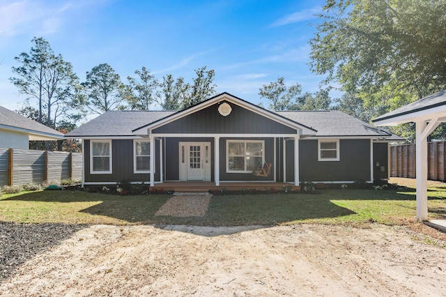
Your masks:
M339 110L328 111L286 111L277 112L293 121L305 123L316 129L316 137L378 137L387 138L392 134L364 123Z

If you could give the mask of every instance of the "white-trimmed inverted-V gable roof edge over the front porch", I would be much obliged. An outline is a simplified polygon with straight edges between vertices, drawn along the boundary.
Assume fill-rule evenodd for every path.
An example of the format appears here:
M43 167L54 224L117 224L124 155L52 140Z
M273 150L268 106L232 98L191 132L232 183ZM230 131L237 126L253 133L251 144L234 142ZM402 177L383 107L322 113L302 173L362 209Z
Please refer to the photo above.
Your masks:
M280 114L271 112L270 110L259 107L258 105L254 105L251 102L247 102L247 101L240 99L236 96L233 96L227 92L220 93L217 96L209 98L208 100L200 102L199 104L189 107L187 109L184 109L180 112L176 112L175 114L166 116L163 119L159 119L152 123L146 123L146 125L141 125L140 127L135 128L133 130L133 132L136 135L139 135L139 134L146 135L148 130L160 127L166 123L175 121L176 119L180 119L184 116L187 116L189 114L197 112L200 109L204 109L206 107L209 107L210 105L214 105L220 101L232 102L233 104L240 105L248 110L251 110L252 112L256 112L257 114L260 114L261 116L266 116L267 118L272 119L273 121L277 121L284 125L288 125L289 127L295 128L296 130L301 130L302 135L314 135L316 133L316 130L314 130L313 128L310 128L308 125L302 124L298 121L293 121L292 119L288 119L284 116L281 116Z

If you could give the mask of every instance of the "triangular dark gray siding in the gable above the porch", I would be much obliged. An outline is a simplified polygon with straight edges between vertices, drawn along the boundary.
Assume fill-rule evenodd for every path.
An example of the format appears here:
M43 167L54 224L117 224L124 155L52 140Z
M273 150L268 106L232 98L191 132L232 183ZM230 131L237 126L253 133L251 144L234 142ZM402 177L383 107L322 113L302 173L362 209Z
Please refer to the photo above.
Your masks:
M215 134L295 134L296 130L277 121L251 112L248 109L231 104L232 112L229 116L221 116L218 104L201 109L193 114L184 116L160 128L153 133L215 133Z

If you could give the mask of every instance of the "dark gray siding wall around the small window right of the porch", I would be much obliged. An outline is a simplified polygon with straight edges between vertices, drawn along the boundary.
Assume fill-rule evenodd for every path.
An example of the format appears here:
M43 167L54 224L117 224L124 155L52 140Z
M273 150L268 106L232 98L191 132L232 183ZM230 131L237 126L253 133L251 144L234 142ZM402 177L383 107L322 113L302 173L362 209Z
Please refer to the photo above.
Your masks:
M294 179L294 142L286 143L286 181ZM299 141L300 181L369 181L370 139L340 139L339 161L318 161L318 140Z

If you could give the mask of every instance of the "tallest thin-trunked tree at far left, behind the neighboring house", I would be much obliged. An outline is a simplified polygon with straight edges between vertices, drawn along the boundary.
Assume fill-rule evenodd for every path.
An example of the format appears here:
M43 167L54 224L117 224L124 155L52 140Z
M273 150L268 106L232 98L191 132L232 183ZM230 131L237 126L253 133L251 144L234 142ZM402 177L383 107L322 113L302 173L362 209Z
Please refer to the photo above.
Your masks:
M38 101L38 121L54 128L60 116L69 116L73 111L70 102L79 89L79 80L71 63L64 61L61 54L54 54L45 39L35 37L31 43L31 52L15 57L20 66L12 68L17 77L11 77L10 81L19 93L27 96L27 102Z

